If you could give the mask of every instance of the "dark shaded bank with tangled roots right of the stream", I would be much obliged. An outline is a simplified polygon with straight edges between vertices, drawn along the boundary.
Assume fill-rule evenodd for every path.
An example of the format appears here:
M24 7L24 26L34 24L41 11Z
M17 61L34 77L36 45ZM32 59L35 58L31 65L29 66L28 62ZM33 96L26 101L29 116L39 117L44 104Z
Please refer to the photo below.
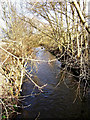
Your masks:
M49 47L47 45L41 44L48 50L51 54L53 54L60 62L61 67L66 71L66 74L70 74L74 76L76 82L80 82L83 84L84 95L88 91L90 87L90 76L89 76L89 60L81 57L77 57L77 54L74 55L71 51L62 49L62 52L58 48ZM82 56L84 57L84 56ZM83 63L81 62L83 59Z

